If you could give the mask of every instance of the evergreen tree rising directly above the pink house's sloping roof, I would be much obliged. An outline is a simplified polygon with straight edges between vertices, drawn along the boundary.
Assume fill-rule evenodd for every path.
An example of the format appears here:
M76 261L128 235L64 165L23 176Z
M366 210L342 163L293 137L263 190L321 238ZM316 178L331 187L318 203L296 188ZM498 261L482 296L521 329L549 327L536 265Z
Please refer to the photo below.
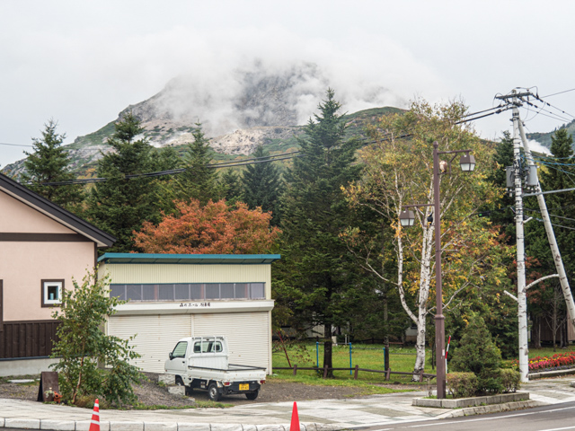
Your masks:
M57 133L57 122L50 119L44 125L42 137L32 139L33 153L26 153L25 172L22 182L40 196L47 198L67 210L75 211L82 202L83 193L78 185L44 186L44 182L73 180L74 174L68 171L68 158L62 143L66 135Z

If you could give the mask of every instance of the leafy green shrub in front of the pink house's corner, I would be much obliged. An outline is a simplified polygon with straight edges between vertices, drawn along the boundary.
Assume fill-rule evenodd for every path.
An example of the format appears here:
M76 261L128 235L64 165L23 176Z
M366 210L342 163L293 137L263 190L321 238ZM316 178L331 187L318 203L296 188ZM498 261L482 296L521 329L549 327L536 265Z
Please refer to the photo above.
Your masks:
M58 373L62 396L70 404L77 404L79 397L83 403L95 398L114 404L137 400L132 383L138 383L141 374L130 364L139 357L129 345L132 338L119 339L102 331L107 316L121 303L110 296L108 277L98 278L94 268L82 285L73 283L74 288L63 292L62 304L52 313L60 325L51 357L59 361L50 366Z

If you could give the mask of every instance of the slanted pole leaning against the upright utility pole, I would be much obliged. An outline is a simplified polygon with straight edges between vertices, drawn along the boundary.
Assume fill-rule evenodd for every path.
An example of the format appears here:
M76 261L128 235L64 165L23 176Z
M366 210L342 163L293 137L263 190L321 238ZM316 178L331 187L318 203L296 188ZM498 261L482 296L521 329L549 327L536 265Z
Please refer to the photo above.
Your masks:
M527 143L527 137L525 135L525 130L521 124L521 120L517 121L519 126L519 134L521 140L523 141L523 149L525 150L527 162L530 166L535 166L533 161L533 156L531 151L529 151L529 145ZM537 180L537 192L541 192L541 183ZM569 320L571 321L571 326L575 329L575 303L573 303L573 295L571 295L571 287L569 286L569 280L567 279L567 274L565 273L565 268L563 267L563 260L561 259L561 251L559 251L559 246L557 245L557 240L555 239L555 233L553 232L553 224L551 224L551 219L549 218L549 212L547 211L547 204L545 203L545 198L543 195L537 195L537 202L539 203L539 209L541 210L541 217L543 218L545 232L547 233L547 239L549 240L549 246L551 247L551 254L553 256L553 261L555 262L555 270L559 275L559 283L563 291L563 297L565 298L565 303L567 304L567 312L569 314Z

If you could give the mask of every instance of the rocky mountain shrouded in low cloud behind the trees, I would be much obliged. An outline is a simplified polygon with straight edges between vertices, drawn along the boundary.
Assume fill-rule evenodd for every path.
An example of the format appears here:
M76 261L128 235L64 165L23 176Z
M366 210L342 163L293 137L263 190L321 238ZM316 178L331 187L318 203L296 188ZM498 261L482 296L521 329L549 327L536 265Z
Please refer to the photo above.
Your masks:
M110 151L106 140L114 131L114 123L127 111L141 120L143 137L156 147L171 145L182 153L192 141L196 123L201 122L206 136L211 136L215 161L245 157L258 145L265 145L272 154L284 153L297 147L296 136L303 133L301 125L313 115L329 87L323 72L308 63L270 69L256 62L237 69L225 80L206 79L174 78L161 92L128 106L104 127L76 137L74 143L66 145L71 170L79 177L94 176L102 153ZM383 88L364 92L357 104L377 106L386 92ZM350 132L356 133L358 125L390 111L399 110L375 108L349 115ZM23 160L3 170L13 178L22 171Z

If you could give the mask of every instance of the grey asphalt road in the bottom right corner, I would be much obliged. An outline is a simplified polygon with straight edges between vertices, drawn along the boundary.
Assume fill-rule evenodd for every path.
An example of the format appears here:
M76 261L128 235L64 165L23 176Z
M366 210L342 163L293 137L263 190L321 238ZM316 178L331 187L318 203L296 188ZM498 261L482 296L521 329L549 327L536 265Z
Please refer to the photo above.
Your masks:
M492 415L360 428L361 431L560 431L575 430L575 402Z

